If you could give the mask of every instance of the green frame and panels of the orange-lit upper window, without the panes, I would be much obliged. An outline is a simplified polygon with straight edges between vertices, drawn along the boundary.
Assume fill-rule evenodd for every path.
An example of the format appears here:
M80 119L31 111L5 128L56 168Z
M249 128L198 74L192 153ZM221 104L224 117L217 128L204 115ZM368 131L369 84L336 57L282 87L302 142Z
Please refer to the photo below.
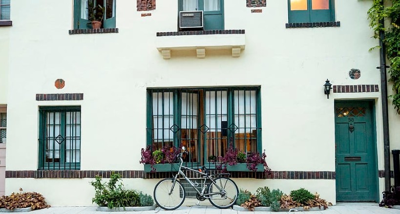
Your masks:
M335 0L302 0L307 4L304 8L293 8L295 0L288 0L289 23L310 23L335 21ZM313 9L314 1L327 1L328 9Z

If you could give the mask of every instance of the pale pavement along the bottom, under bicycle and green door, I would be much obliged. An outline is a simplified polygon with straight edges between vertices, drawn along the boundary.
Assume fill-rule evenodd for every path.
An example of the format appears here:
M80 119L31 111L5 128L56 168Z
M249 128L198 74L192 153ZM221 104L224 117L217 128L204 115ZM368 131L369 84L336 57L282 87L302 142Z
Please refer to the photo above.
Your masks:
M290 214L293 214L291 212ZM304 212L302 212L304 213ZM306 212L307 214L308 212ZM376 203L337 203L325 211L310 214L400 214L400 210L381 208ZM1 213L6 214L6 213ZM35 210L29 214L289 214L289 212L238 212L232 209L221 210L213 206L182 206L174 211L156 208L144 212L99 212L96 207L51 207Z

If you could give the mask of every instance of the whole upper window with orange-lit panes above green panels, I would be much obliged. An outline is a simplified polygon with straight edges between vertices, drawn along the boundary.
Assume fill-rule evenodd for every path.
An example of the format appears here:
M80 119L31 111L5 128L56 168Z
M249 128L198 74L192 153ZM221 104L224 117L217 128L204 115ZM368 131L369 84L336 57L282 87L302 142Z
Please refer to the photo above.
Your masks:
M288 0L289 23L335 21L334 0Z

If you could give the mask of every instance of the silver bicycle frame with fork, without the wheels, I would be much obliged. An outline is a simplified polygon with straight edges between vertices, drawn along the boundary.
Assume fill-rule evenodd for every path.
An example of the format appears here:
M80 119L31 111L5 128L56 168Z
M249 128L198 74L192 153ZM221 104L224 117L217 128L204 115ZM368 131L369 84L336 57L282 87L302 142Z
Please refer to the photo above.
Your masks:
M171 190L169 191L169 194L172 193L172 190L173 190L173 188L174 188L174 186L175 186L175 181L176 181L176 179L178 179L178 175L182 175L183 178L185 178L185 180L188 181L188 183L190 184L190 186L191 186L200 196L204 196L205 198L210 198L210 197L212 197L212 196L215 195L215 194L221 194L221 193L223 193L223 190L222 190L218 185L216 185L216 182L215 182L214 179L211 177L211 175L209 175L208 173L204 173L204 172L201 172L201 171L193 170L193 169L191 169L191 168L189 168L189 167L183 166L182 153L181 153L181 155L179 155L179 158L180 158L179 170L178 170L178 173L176 173L176 175L175 175L174 178L173 178L173 183L172 183ZM196 185L188 178L188 176L186 176L186 174L182 171L182 169L196 172L197 174L201 174L201 175L204 177L204 181L202 181L202 182L204 182L204 186L203 186L203 188L202 188L202 192L201 192L201 193L200 193L200 191L197 190ZM218 188L218 190L219 190L218 193L206 193L206 194L204 194L204 192L205 192L205 190L206 190L206 188L207 188L207 185L206 185L207 180L210 180L213 184L215 184L215 187Z

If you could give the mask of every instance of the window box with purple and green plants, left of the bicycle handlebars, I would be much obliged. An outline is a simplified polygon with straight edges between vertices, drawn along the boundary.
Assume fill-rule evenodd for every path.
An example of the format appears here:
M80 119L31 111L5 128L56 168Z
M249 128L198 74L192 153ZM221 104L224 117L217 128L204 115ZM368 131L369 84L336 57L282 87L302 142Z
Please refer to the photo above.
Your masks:
M142 148L141 164L145 165L145 172L160 172L160 171L178 171L179 163L176 162L176 157L179 150L168 145L158 150L151 150L150 146L146 149Z

